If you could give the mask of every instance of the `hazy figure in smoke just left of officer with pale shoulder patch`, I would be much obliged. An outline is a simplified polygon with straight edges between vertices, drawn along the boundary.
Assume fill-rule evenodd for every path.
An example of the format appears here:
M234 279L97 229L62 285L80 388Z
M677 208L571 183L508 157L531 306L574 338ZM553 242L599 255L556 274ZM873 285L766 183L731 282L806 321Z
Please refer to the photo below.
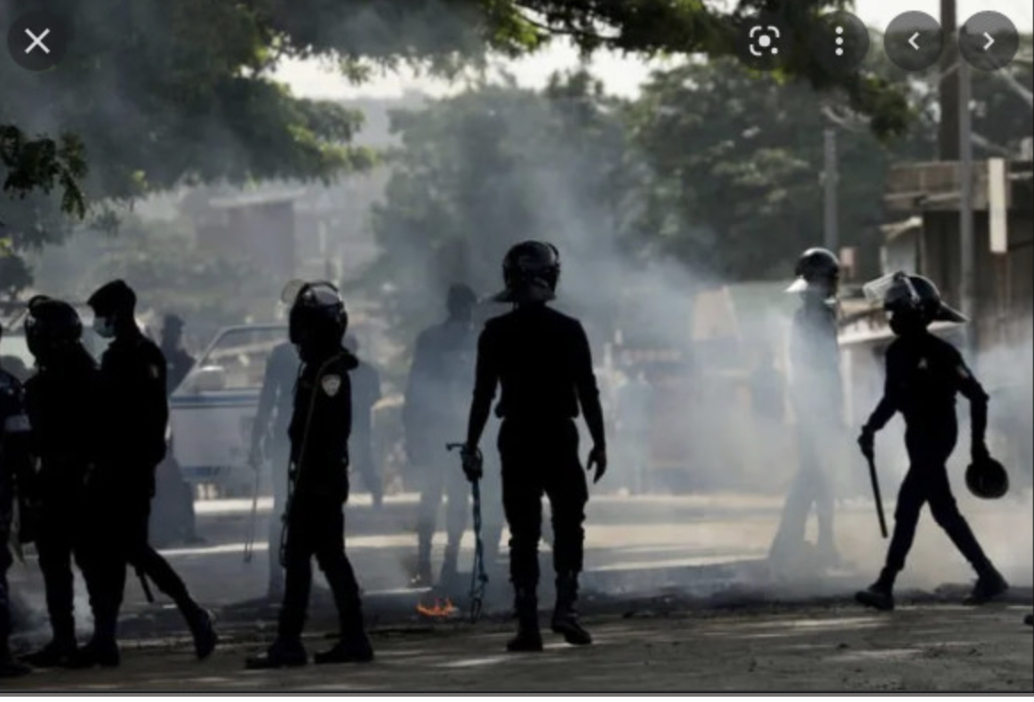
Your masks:
M258 409L251 427L250 463L256 470L263 456L269 462L273 486L273 515L269 522L269 586L266 597L283 598L283 564L280 562L281 515L287 503L287 466L291 462L291 437L287 426L295 399L295 381L301 360L295 344L277 344L266 361L266 374L258 395Z

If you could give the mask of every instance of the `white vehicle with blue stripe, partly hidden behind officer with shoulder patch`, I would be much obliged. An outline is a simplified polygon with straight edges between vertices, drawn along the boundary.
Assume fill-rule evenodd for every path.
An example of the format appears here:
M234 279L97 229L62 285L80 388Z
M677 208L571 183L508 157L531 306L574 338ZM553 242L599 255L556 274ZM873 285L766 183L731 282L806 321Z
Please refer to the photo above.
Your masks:
M286 339L284 325L222 329L173 391L173 454L205 496L251 494L248 452L266 360Z

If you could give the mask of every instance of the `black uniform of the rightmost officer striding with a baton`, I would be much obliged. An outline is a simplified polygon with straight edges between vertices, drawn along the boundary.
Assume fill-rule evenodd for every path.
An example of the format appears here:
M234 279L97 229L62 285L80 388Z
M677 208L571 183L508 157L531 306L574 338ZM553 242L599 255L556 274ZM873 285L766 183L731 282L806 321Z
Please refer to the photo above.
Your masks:
M927 502L934 520L974 570L981 576L997 575L959 512L946 467L959 433L955 395L962 393L970 401L974 446L982 446L987 424L986 393L959 350L927 332L894 339L887 348L886 366L883 398L864 431L879 431L894 414L902 413L910 465L898 494L894 533L881 584L889 588L905 567L919 511Z

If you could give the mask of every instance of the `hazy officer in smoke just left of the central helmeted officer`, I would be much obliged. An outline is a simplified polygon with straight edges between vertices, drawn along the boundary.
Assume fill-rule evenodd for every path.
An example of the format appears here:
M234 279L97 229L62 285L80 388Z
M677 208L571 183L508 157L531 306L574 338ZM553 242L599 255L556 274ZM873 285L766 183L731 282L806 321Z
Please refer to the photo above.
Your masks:
M439 583L456 578L459 544L466 528L467 486L450 469L443 451L449 436L461 435L474 377L476 337L473 313L477 296L463 284L450 286L448 318L417 337L405 389L402 425L409 465L420 486L417 522L417 573L414 585L431 584L431 540L446 494L446 551Z

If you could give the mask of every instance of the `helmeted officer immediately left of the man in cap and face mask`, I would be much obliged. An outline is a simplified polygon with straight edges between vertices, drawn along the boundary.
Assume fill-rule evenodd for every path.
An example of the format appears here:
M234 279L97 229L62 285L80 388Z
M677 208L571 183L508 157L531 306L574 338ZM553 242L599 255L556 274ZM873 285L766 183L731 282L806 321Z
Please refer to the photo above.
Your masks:
M100 371L82 335L83 323L71 305L43 296L29 301L25 336L36 374L25 384L25 398L39 459L35 541L53 632L50 643L26 657L37 668L74 657L73 555L83 573L90 573L81 537L92 518L84 507L87 474L96 461L94 404L101 390ZM91 592L93 584L90 578Z

